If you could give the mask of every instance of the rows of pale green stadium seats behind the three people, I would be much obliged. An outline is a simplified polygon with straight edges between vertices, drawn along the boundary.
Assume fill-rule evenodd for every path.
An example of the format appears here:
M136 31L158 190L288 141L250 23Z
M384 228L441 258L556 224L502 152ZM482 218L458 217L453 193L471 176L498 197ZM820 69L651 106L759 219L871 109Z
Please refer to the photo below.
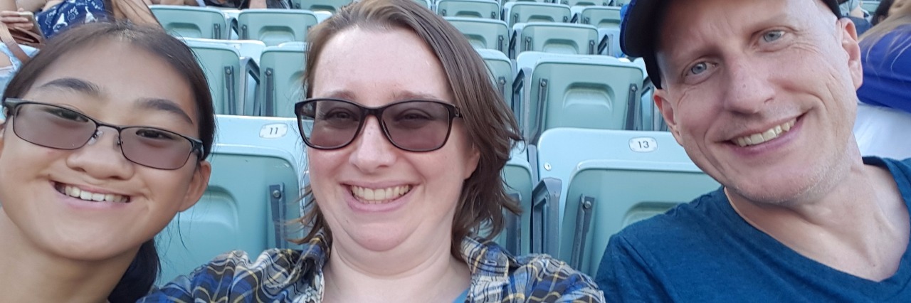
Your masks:
M286 223L301 216L307 183L292 110L302 96L306 29L346 1L308 3L294 7L312 10L152 6L199 57L220 114L210 187L159 237L159 282L230 249L255 256L293 247L285 239L302 236ZM496 237L510 251L548 253L594 274L620 228L719 187L660 131L666 126L650 101L643 63L610 46L619 7L583 0L425 4L475 45L525 137L503 169L524 209Z

